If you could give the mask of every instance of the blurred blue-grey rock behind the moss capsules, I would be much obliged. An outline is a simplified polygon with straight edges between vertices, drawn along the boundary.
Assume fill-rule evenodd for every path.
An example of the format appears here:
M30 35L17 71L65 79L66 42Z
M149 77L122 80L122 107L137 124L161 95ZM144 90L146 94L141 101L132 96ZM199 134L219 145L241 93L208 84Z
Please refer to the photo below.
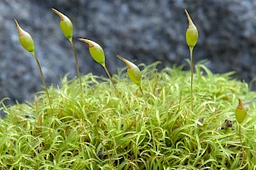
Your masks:
M218 73L236 71L236 78L256 77L256 1L252 0L1 0L0 2L0 99L9 104L29 101L42 90L38 67L20 45L14 19L28 31L48 85L60 84L69 73L76 76L73 51L59 28L56 8L73 21L74 45L81 73L106 76L79 37L98 42L112 73L125 65L116 54L136 64L156 60L161 66L189 65L185 42L188 9L199 31L195 63L208 59Z

